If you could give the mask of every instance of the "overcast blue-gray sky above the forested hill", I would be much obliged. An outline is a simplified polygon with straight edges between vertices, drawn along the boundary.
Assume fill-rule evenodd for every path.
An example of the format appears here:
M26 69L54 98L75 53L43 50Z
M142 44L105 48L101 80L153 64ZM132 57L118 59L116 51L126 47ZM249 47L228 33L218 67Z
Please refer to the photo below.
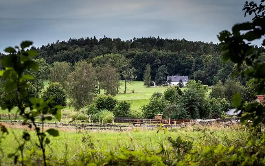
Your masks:
M218 42L244 18L244 0L0 0L0 52L80 37L160 36Z

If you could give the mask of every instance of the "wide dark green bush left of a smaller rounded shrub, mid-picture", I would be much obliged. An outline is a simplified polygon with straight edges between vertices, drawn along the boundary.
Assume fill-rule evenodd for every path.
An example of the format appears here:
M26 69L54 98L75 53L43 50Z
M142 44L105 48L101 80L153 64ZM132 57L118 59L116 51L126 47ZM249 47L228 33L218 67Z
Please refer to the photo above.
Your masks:
M109 111L113 111L117 102L117 99L115 99L113 96L107 95L98 97L95 101L95 105L98 110L106 109Z

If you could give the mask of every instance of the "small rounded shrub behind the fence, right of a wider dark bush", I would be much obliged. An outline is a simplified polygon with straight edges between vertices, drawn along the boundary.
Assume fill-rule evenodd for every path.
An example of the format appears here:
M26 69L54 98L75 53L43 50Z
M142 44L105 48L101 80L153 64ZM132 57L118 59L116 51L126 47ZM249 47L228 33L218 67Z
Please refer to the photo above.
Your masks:
M114 109L114 115L119 117L128 117L131 104L127 101L119 101Z

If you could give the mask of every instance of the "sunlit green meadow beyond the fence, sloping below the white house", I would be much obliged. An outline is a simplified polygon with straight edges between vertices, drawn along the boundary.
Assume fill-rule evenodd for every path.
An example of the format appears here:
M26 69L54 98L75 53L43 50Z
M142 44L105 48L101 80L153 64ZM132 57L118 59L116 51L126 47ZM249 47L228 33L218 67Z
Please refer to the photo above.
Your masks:
M149 102L149 99L151 95L154 92L161 92L163 93L165 89L168 87L163 87L163 86L153 86L153 87L145 87L143 84L143 81L133 81L132 84L127 83L127 93L124 93L125 89L125 84L124 81L120 81L121 85L119 88L119 94L115 96L116 99L118 100L127 100L131 103L131 109L135 111L141 111L140 107L143 106L144 104L147 104ZM48 86L48 81L44 82L44 87L45 89ZM135 92L132 93L132 90ZM185 88L181 88L181 90L185 90ZM102 94L104 92L102 91ZM208 90L207 95L209 95L210 89ZM67 100L69 102L69 99ZM65 109L62 110L62 113L69 113L69 115L76 111L73 107L66 107ZM0 114L1 113L8 113L7 110L1 110L0 109ZM10 113L16 113L16 109L13 109Z

